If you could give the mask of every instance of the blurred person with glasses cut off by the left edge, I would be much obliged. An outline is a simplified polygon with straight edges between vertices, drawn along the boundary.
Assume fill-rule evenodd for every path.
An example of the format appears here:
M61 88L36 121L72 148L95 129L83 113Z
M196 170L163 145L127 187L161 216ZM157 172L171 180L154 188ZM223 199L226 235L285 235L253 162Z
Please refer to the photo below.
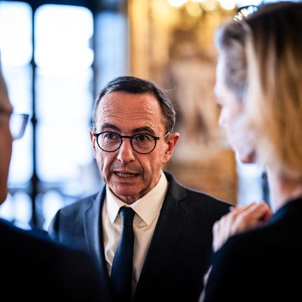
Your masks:
M0 62L1 63L1 62ZM13 139L21 138L28 115L13 113L0 64L0 204L8 192ZM11 131L10 131L11 130ZM70 250L0 220L1 296L10 301L104 301L99 275L82 252Z

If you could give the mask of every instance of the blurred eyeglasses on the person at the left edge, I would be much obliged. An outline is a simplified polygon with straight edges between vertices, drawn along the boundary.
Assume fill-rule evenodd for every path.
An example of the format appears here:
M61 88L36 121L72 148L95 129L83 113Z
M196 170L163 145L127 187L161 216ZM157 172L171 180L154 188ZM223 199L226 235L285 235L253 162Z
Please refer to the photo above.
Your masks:
M16 140L22 138L29 120L29 115L12 113L10 110L4 109L0 109L0 114L8 115L10 117L9 127L13 139Z

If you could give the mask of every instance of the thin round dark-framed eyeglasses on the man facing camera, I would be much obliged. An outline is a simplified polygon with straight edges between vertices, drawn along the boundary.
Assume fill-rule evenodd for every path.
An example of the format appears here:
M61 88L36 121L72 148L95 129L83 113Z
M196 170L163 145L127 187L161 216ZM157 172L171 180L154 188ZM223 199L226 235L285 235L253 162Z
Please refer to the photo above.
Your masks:
M170 132L164 135L162 138L168 136ZM135 134L134 136L121 136L112 131L105 131L99 134L94 134L96 137L96 143L101 150L106 152L115 152L120 149L123 138L129 138L131 147L134 151L140 154L148 154L154 150L157 141L160 139L158 136L152 136L150 134Z

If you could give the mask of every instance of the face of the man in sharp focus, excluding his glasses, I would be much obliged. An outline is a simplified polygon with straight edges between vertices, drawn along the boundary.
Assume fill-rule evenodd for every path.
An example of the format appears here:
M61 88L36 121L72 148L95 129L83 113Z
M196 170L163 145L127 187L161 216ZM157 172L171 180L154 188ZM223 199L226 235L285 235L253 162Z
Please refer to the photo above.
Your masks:
M111 92L103 96L97 108L96 133L114 131L120 135L151 134L159 136L156 148L139 154L123 138L120 149L105 152L90 133L94 157L103 179L112 192L126 203L134 203L159 181L161 166L172 156L178 134L166 134L159 102L152 94Z

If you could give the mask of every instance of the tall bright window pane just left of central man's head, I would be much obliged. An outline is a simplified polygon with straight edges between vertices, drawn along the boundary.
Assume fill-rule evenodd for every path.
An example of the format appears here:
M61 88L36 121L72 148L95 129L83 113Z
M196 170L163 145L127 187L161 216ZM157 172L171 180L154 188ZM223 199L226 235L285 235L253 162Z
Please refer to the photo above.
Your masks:
M82 168L93 161L92 13L45 5L38 8L35 20L38 177L48 187L80 195L87 189Z

